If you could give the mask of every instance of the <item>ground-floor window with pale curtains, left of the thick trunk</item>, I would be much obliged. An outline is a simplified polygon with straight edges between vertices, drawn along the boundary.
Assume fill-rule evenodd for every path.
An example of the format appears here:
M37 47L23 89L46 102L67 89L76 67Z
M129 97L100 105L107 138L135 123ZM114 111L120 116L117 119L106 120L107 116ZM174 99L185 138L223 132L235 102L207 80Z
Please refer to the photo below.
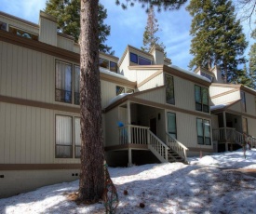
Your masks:
M55 157L79 158L81 155L80 118L67 115L56 115L55 121Z

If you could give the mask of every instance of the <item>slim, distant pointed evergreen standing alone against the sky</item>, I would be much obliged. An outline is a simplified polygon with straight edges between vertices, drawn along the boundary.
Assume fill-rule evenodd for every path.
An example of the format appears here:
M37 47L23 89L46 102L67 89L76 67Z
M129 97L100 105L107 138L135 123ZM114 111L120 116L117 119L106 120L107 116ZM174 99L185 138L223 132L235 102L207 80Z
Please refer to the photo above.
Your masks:
M154 7L151 7L148 12L147 25L143 33L143 47L141 47L143 51L149 52L152 47L157 46L162 48L163 52L165 52L166 47L163 43L159 42L160 38L155 35L159 30L158 26L159 24L155 18Z

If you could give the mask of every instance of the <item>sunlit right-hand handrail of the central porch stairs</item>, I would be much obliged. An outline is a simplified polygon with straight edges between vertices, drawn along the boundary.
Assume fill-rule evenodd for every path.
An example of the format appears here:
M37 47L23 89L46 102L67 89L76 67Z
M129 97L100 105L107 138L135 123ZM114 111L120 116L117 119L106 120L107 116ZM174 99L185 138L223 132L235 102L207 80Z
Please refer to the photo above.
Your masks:
M185 162L187 162L187 150L189 150L186 146L184 146L182 144L182 142L180 142L179 140L177 139L174 139L171 137L170 134L166 133L167 134L167 145L168 147L173 151L175 152L176 154L179 154ZM175 159L175 157L174 157Z

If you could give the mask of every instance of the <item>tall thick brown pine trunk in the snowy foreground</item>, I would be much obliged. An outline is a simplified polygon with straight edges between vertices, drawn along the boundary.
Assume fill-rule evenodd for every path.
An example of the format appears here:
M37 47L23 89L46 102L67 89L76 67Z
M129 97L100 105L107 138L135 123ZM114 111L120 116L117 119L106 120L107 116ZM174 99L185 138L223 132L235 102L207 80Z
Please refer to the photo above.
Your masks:
M98 3L99 0L81 0L81 171L78 200L88 203L98 201L104 188Z

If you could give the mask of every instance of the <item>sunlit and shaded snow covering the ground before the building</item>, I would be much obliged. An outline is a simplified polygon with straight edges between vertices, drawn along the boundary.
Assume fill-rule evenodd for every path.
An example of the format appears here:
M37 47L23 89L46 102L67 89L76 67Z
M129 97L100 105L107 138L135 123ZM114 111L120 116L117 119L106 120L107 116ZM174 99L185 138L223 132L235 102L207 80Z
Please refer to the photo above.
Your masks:
M120 201L116 213L256 213L256 178L218 168L256 168L256 149L247 152L247 159L238 150L189 161L189 166L109 167ZM68 201L66 195L77 188L78 181L73 181L0 199L0 213L105 212L101 202L77 206Z

